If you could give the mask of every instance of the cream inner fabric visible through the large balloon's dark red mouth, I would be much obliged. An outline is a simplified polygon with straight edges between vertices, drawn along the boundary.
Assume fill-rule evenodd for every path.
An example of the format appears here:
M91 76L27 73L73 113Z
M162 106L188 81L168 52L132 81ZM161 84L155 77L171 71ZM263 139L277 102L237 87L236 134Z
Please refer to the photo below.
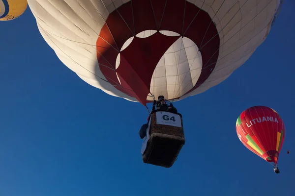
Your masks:
M125 41L120 52L131 46L135 38L146 39L156 34L156 30L144 30ZM178 37L180 34L170 30L159 31L164 36ZM116 70L120 67L121 55L116 59ZM202 73L202 54L197 45L187 37L179 37L157 63L149 84L150 94L154 97L164 95L168 100L186 95L198 82ZM117 74L118 77L118 74ZM118 81L120 79L118 77ZM121 82L120 82L121 84ZM147 96L147 101L153 98Z

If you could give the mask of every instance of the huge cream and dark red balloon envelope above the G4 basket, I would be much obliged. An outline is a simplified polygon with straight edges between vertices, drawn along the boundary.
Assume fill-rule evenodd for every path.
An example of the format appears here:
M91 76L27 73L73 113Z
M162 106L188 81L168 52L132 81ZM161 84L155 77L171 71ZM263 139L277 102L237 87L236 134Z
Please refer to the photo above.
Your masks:
M59 59L90 85L146 104L225 80L263 43L281 0L28 0Z

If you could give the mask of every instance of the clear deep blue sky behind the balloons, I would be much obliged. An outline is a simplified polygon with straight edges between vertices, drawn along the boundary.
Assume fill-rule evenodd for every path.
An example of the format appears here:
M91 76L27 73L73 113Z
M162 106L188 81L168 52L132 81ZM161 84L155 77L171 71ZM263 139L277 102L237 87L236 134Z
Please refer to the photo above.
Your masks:
M286 0L266 41L226 81L175 103L186 144L170 169L142 162L144 106L64 66L29 8L1 22L0 196L294 196L294 10ZM279 174L236 136L237 117L254 105L284 120Z

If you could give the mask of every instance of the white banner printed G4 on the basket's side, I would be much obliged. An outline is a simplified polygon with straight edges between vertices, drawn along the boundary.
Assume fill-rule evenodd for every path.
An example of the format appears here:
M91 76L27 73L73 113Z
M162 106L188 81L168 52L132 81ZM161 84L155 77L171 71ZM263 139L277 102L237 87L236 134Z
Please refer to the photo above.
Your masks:
M178 114L170 112L156 112L157 124L170 125L170 126L181 126L181 119Z

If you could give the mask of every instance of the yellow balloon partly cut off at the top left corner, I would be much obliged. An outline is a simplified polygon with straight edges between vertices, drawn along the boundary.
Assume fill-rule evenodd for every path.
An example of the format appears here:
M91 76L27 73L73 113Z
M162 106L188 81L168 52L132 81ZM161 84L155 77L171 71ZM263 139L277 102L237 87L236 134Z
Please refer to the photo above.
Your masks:
M27 9L27 0L0 0L0 21L11 21Z

